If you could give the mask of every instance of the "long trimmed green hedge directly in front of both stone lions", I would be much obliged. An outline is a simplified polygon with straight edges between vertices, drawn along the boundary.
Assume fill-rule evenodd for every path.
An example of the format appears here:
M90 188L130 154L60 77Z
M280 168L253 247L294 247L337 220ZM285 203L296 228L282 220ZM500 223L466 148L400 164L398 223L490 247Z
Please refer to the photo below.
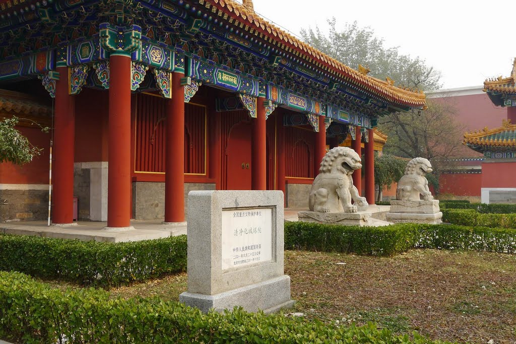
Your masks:
M285 223L286 250L394 255L412 248L515 253L516 230L415 223L385 227Z

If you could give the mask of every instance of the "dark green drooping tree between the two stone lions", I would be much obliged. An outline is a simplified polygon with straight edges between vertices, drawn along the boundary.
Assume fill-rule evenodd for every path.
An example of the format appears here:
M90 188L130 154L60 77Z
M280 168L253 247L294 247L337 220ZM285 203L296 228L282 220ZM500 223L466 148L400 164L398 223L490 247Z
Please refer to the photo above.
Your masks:
M375 183L378 185L378 202L381 201L381 190L391 189L392 183L397 183L407 167L407 160L391 154L379 155L375 152Z

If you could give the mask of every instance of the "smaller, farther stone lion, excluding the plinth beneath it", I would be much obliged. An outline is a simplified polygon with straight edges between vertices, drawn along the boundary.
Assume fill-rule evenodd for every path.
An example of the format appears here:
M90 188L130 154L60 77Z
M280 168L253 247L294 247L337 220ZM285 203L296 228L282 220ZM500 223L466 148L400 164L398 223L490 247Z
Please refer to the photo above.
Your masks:
M396 200L399 201L421 201L420 194L424 201L433 200L432 193L428 189L426 173L432 172L430 161L425 158L414 158L409 161L405 168L405 175L399 179L396 188Z

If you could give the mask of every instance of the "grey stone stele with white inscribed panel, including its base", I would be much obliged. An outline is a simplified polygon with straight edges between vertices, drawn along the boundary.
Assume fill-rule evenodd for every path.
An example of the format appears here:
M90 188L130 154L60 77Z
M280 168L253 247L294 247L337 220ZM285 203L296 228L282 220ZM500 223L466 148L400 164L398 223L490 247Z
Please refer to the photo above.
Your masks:
M188 286L180 301L203 312L292 306L283 221L281 191L190 191Z

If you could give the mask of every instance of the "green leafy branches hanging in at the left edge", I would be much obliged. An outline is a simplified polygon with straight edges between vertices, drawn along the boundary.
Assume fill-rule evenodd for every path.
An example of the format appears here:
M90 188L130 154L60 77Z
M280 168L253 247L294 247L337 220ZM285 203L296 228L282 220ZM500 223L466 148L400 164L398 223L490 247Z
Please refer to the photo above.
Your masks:
M31 144L25 136L14 128L18 122L19 118L17 117L0 121L0 163L12 162L23 165L41 154L42 149ZM41 128L45 133L49 130L46 127Z

